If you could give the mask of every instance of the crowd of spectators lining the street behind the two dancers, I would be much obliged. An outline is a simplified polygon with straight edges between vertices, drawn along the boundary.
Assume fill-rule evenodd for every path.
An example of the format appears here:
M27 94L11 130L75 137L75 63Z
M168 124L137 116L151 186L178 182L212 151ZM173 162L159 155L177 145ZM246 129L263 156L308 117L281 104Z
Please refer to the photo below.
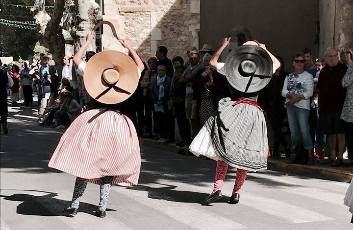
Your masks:
M171 60L167 47L157 47L155 57L149 58L147 65L144 63L137 90L121 103L120 110L133 121L140 138L174 143L177 124L181 141L175 144L187 147L218 110L218 101L234 93L226 77L209 66L211 48L198 51L190 46L186 53L187 60L181 56ZM87 52L85 61L94 55ZM295 163L320 160L341 166L347 146L348 158L353 159L352 55L351 49L328 48L324 58L313 61L310 49L305 48L293 56L290 73L277 56L282 65L258 96L274 133L270 145L273 158L279 159L281 153L289 158L294 153ZM32 66L25 61L21 68L7 68L14 81L11 105L16 106L19 98L24 98L25 106L31 106L32 92L36 92L40 125L67 128L76 116L89 109L92 99L72 58L63 57L63 63L61 79L50 54L41 54ZM286 120L290 139L283 133Z

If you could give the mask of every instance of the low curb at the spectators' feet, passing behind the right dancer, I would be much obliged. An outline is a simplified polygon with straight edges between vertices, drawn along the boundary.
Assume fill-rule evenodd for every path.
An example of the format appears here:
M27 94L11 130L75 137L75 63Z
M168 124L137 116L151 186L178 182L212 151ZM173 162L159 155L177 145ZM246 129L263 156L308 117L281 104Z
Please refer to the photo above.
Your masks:
M194 156L188 151L185 147L177 147L175 144L160 144L154 139L142 139L140 138L140 143L143 143L149 147L153 148L163 148L171 152L176 152L180 155L185 156ZM284 172L286 174L293 174L299 176L305 176L316 179L337 181L337 182L346 182L350 183L353 178L353 172L348 170L342 170L344 167L331 168L324 166L315 166L315 165L304 165L304 164L288 164L283 161L275 161L269 159L268 169L278 172ZM341 169L342 168L342 169Z

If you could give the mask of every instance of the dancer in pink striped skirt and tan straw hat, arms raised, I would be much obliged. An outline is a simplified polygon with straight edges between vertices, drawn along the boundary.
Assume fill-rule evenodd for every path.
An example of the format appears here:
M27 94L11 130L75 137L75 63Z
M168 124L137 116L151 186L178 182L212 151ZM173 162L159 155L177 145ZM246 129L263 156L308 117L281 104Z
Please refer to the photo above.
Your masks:
M95 39L95 31L87 34L86 43L76 55L80 60L86 47ZM117 104L136 90L144 65L121 38L133 60L119 51L95 54L84 70L87 92L96 102L95 109L79 115L61 137L49 167L76 176L71 205L63 212L77 214L80 199L88 182L101 185L101 198L96 216L104 217L111 184L137 184L140 175L141 153L138 137L131 120L121 114Z

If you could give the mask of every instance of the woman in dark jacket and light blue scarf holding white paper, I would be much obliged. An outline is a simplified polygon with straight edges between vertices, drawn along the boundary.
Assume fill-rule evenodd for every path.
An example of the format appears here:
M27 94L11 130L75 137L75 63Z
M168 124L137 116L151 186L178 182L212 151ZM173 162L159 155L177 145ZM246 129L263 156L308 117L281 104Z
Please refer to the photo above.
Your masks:
M163 65L157 68L158 75L151 82L151 97L154 102L156 130L160 139L158 142L167 143L171 141L171 124L168 110L168 100L172 78L166 75L166 67Z

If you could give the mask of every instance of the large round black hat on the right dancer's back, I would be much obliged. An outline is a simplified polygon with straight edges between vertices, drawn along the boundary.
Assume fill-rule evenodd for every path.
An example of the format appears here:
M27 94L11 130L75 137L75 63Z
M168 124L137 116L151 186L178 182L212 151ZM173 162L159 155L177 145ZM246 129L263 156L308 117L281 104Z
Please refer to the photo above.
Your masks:
M265 49L245 45L228 54L225 68L232 87L241 92L257 92L271 80L273 64Z

